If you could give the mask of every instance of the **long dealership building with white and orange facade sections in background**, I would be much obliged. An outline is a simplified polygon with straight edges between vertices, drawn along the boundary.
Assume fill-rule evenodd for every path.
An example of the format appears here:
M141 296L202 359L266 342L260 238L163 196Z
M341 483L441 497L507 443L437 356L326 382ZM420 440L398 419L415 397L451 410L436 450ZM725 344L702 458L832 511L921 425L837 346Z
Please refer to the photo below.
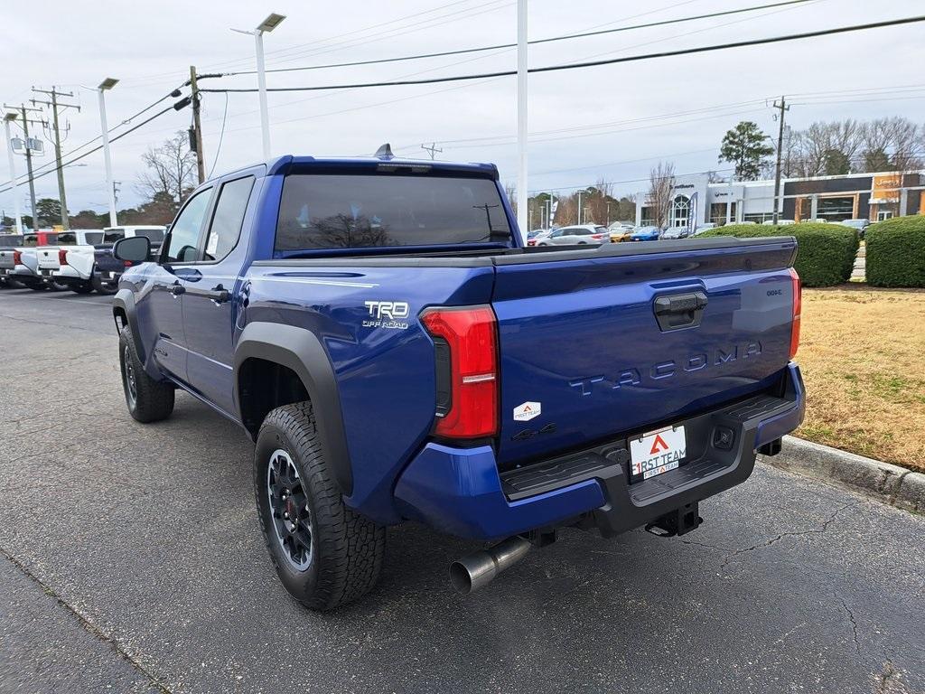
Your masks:
M782 219L880 221L925 214L925 171L820 176L781 181ZM708 174L677 176L672 187L669 226L686 227L691 197L697 193L696 224L730 224L770 220L774 214L773 180L709 182ZM655 224L648 191L636 194L636 226Z

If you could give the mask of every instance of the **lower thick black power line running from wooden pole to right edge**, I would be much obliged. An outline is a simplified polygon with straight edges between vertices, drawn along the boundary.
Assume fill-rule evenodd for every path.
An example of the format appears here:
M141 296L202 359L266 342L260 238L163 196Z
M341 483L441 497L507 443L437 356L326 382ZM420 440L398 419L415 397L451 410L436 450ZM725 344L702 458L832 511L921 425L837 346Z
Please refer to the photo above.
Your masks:
M835 34L847 33L850 31L867 31L870 29L882 29L884 27L894 27L904 24L925 21L925 15L917 17L907 17L902 19L889 19L886 21L870 22L868 24L856 24L848 27L835 27L833 29L823 29L820 31L804 31L802 33L786 34L783 36L770 36L763 39L750 39L748 41L736 41L733 43L716 43L713 45L697 46L694 48L685 48L678 51L660 51L659 53L648 53L640 56L626 56L619 58L608 58L606 60L590 60L581 63L567 63L564 65L549 65L543 68L530 68L528 72L557 72L559 70L571 70L578 68L597 68L604 65L615 65L618 63L631 63L639 60L652 60L654 58L690 56L699 53L709 53L712 51L722 51L731 48L746 48L748 46L765 45L768 43L782 43L785 41L798 41L802 39L818 38L820 36L833 36ZM401 87L414 84L435 84L438 82L453 81L470 81L485 80L494 77L510 77L516 74L516 70L500 70L498 72L484 72L476 75L454 75L452 77L434 77L425 80L401 80L401 81L380 81L380 82L360 82L356 84L326 84L315 87L271 87L267 92L321 92L335 89L366 89L370 87ZM234 89L203 89L201 92L210 93L253 93L256 88L234 88Z

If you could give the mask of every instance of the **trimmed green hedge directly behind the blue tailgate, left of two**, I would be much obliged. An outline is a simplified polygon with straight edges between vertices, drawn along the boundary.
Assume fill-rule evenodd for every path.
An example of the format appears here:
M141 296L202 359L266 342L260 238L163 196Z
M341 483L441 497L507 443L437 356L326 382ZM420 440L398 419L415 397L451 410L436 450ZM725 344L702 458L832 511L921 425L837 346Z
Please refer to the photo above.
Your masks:
M796 237L794 266L805 287L833 287L851 279L858 246L856 229L840 224L811 222L783 227L727 224L725 227L704 231L700 236L737 236L743 239L757 236Z

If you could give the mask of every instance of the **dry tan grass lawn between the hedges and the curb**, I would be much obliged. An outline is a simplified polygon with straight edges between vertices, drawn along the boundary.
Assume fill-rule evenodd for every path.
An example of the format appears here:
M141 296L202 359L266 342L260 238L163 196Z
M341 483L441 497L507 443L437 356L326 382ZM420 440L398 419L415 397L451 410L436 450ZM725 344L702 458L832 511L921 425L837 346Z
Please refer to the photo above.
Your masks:
M796 435L925 470L925 291L805 289Z

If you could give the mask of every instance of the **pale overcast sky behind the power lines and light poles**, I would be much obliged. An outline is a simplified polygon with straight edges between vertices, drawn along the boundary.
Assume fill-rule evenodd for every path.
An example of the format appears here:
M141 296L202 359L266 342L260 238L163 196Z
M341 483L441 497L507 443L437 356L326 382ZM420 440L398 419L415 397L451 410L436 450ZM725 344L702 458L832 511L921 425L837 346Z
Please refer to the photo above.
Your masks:
M566 33L689 17L774 0L531 0L529 35ZM402 0L350 3L290 0L158 0L88 6L61 0L5 2L0 99L19 104L31 86L56 85L74 93L80 112L63 112L70 124L64 150L100 133L95 87L120 80L108 94L110 127L200 73L254 67L253 39L229 31L253 29L270 12L287 19L265 37L267 68L407 56L516 40L513 0ZM814 0L731 17L605 34L531 47L531 67L603 57L632 56L746 38L812 31L920 14L921 0ZM678 173L723 169L717 151L723 133L741 119L776 132L766 99L782 93L794 103L796 128L820 119L900 115L925 123L925 25L836 35L703 55L681 56L530 77L531 191L614 181L616 192L646 187L659 159ZM449 56L353 68L268 76L270 87L435 77L515 67L515 52ZM245 75L203 81L203 88L253 87ZM392 143L397 154L428 156L421 143L436 142L439 158L491 161L501 176L516 176L514 78L338 92L271 93L274 155L371 155ZM184 91L186 93L186 90ZM44 98L44 97L43 97ZM203 95L206 171L216 174L262 157L255 93ZM164 105L170 101L164 102ZM158 106L160 108L161 106ZM154 113L154 111L150 111ZM678 115L682 114L682 115ZM686 114L686 115L684 115ZM132 125L142 120L132 121ZM166 114L113 144L119 207L139 202L140 156L150 145L189 127L191 109ZM224 122L224 136L221 135ZM53 148L46 137L47 163ZM221 148L219 150L219 143ZM217 157L217 159L216 159ZM102 152L68 167L72 214L106 208ZM18 173L25 161L17 158ZM6 159L0 167L6 180ZM56 177L36 180L38 197L57 197ZM6 186L4 186L6 187ZM27 187L20 185L25 203ZM12 215L11 192L0 206Z

